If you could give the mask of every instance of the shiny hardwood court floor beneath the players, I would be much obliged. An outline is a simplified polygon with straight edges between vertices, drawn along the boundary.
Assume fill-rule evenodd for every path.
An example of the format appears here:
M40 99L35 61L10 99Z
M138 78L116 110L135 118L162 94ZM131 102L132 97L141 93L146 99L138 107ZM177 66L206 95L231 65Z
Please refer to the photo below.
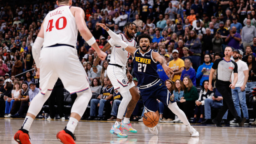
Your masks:
M0 119L0 144L17 144L13 136L21 127L23 119ZM113 121L114 122L114 121ZM193 127L199 131L199 137L190 137L182 124L159 123L158 135L152 135L143 122L133 123L138 133L128 133L127 138L119 138L109 132L113 122L79 122L76 131L77 144L255 144L255 127L215 127L213 125ZM30 128L32 144L60 144L56 139L58 131L66 126L66 121L35 120Z

